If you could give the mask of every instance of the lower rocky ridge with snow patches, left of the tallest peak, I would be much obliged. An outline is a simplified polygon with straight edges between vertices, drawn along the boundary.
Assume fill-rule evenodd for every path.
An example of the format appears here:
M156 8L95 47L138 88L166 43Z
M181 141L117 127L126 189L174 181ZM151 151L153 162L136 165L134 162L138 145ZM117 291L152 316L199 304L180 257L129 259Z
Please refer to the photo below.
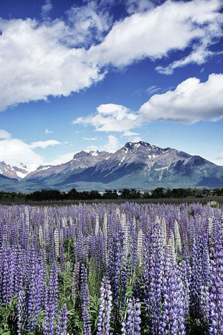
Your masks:
M55 166L40 166L36 171L33 171L24 178L31 182L44 182L50 185L55 185L68 178L69 175L80 173L86 168L108 159L112 154L105 151L81 151L75 154L73 159L67 163Z

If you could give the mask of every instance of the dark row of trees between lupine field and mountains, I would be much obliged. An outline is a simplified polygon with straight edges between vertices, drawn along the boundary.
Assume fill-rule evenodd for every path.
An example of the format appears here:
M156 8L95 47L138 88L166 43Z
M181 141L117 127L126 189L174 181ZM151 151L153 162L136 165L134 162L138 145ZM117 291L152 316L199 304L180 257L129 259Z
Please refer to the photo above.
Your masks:
M96 190L78 192L76 189L71 189L68 192L59 190L34 191L26 195L26 200L93 200L93 199L161 199L161 198L187 198L196 197L203 198L206 196L223 196L223 188L215 189L164 189L157 188L152 191L140 192L136 189L105 190L99 193Z

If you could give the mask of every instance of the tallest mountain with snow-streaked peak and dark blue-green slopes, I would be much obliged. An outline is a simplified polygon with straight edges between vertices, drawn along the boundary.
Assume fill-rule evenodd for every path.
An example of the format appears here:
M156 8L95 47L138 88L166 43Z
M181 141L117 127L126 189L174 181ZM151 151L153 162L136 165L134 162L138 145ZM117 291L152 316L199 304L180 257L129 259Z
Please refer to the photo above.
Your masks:
M222 187L223 167L200 156L146 142L128 142L110 156L56 184L100 183L100 188Z

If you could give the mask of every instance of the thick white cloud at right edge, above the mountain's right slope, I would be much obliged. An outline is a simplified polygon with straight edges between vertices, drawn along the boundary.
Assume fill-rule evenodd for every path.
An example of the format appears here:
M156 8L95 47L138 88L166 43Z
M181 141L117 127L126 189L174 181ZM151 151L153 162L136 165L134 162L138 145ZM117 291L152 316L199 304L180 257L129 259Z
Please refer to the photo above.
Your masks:
M174 91L152 96L139 108L138 114L143 122L218 121L223 118L223 75L212 73L204 83L189 78Z

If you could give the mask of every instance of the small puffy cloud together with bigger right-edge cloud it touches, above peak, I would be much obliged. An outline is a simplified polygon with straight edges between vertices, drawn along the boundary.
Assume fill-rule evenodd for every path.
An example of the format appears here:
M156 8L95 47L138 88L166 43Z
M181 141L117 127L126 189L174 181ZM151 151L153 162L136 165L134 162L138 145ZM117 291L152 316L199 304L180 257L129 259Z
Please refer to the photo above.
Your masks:
M220 119L223 119L223 74L212 73L206 82L189 78L172 91L153 95L138 111L113 103L102 104L94 115L77 118L73 124L131 136L137 135L132 129L151 121L193 124Z

